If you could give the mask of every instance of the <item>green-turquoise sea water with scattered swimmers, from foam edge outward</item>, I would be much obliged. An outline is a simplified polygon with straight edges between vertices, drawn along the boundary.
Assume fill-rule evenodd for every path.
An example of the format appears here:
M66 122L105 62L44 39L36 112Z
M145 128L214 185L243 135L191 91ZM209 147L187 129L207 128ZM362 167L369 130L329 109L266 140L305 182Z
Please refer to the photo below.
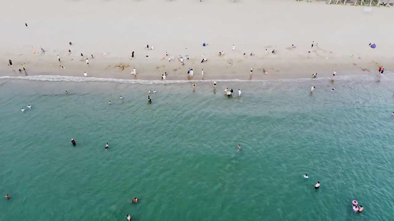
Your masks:
M391 220L394 75L196 83L0 78L0 221Z

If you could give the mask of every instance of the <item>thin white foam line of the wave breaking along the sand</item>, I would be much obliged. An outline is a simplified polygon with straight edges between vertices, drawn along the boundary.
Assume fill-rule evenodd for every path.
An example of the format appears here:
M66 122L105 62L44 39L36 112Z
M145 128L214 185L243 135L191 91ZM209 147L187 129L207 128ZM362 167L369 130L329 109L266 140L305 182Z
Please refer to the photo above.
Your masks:
M294 82L294 81L313 81L313 80L329 80L331 77L321 77L317 79L312 78L298 78L298 79L279 79L279 80L240 80L240 79L225 79L225 80L136 80L136 79L114 79L114 78L100 78L100 77L72 77L72 76L52 76L52 75L37 75L37 76L26 76L26 77L12 77L2 76L0 79L23 79L31 81L64 81L64 82L119 82L119 83L132 83L132 84L173 84L173 83L190 83L190 82ZM394 80L394 73L388 73L383 75L383 79ZM376 75L344 75L335 76L335 81L374 81Z

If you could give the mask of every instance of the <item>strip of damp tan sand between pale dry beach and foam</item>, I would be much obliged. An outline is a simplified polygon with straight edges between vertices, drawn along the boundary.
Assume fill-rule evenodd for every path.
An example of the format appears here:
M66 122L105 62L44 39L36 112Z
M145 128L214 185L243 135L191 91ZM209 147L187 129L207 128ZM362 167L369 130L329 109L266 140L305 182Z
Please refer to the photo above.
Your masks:
M96 58L95 58L96 60ZM97 59L98 60L98 59ZM118 59L114 59L118 60ZM262 66L259 61L263 60L268 63ZM381 66L380 63L374 61L364 62L362 59L351 58L349 61L344 61L344 59L309 59L309 62L314 61L314 63L298 62L300 59L293 59L287 63L282 63L281 59L250 59L249 61L243 61L242 64L225 64L225 61L210 61L208 60L204 64L196 64L196 61L191 59L191 65L197 67L201 70L201 66L204 68L204 77L202 77L201 72L195 72L193 78L188 77L187 69L188 66L181 66L180 63L175 64L171 67L165 67L165 64L158 66L156 64L144 63L141 64L142 70L137 69L137 74L130 74L131 65L127 63L119 63L117 66L111 65L113 63L107 63L107 65L95 65L89 66L87 72L87 78L105 78L105 79L121 79L121 80L141 80L141 81L162 81L161 74L167 72L166 81L199 81L199 80L244 80L244 81L269 81L269 80L280 80L280 79L312 79L313 73L318 73L317 78L331 77L334 70L336 70L336 78L339 76L353 75L353 74L365 74L365 75L376 75L377 69ZM330 61L328 61L330 60ZM381 59L382 60L382 59ZM389 59L386 63L389 63ZM45 62L42 62L45 63ZM211 64L212 63L212 64ZM259 65L260 64L260 65ZM125 70L120 70L121 65L129 66ZM223 67L218 68L219 65ZM0 69L0 77L26 77L26 76L64 76L64 77L84 77L83 72L79 72L79 69L84 70L82 66L85 64L78 64L74 66L66 66L66 69L54 68L47 66L49 70L43 70L43 66L40 63L36 63L31 70L28 68L28 64L25 64L26 71L21 71L20 73L16 68L19 66L11 68L8 66L8 70ZM111 66L110 68L108 68ZM115 66L115 67L112 67ZM250 76L250 67L253 67L253 74ZM275 68L279 67L279 68ZM390 65L385 65L385 74L391 72ZM171 69L172 68L172 69ZM200 69L201 68L201 69ZM87 69L87 68L85 68ZM110 70L108 70L110 69ZM217 70L219 69L219 70ZM268 72L268 74L263 74L263 69ZM175 70L175 71L174 71ZM224 70L224 71L223 71ZM393 69L394 70L394 69Z

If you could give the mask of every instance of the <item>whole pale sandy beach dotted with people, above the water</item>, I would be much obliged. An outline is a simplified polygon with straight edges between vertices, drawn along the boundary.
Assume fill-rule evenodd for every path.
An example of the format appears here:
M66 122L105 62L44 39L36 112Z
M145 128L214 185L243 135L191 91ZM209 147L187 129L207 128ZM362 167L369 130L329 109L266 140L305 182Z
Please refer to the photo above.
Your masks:
M295 0L8 1L0 9L13 18L0 24L0 76L87 72L87 77L160 80L167 72L167 80L187 80L193 68L194 80L202 79L202 69L206 80L270 80L310 78L315 72L328 77L334 70L338 76L376 74L379 66L388 73L394 56L385 21L394 17L392 10L372 7L366 13L360 6ZM147 44L154 49L144 48ZM190 58L184 66L179 55ZM208 60L201 63L203 55ZM26 73L18 72L22 64Z

